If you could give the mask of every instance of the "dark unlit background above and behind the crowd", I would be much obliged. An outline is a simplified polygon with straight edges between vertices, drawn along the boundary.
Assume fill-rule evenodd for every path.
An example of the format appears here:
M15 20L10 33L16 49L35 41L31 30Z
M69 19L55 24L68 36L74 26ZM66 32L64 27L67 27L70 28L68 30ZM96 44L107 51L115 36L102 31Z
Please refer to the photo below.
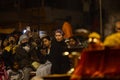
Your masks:
M0 27L22 30L30 25L36 29L51 30L50 28L56 26L56 22L59 24L65 19L67 12L76 12L72 16L68 15L72 17L71 24L74 28L83 27L100 32L100 1L104 32L107 29L106 24L119 18L120 0L0 0ZM88 12L84 11L83 2L90 2ZM56 9L56 13L53 16L48 15L49 11L46 13L44 9L46 7L49 7L51 12ZM66 13L60 17L61 13L57 10L64 10ZM51 20L45 20L48 17L52 17ZM94 21L97 21L95 25Z

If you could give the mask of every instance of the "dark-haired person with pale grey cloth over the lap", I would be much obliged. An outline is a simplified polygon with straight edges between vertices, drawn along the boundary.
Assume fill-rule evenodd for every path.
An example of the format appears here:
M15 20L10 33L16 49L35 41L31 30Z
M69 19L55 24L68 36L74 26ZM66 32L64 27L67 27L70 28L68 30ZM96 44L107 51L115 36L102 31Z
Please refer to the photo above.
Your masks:
M40 66L36 70L36 76L47 76L51 74L51 62L48 60L48 56L51 48L51 38L49 36L42 37L42 47L39 54Z

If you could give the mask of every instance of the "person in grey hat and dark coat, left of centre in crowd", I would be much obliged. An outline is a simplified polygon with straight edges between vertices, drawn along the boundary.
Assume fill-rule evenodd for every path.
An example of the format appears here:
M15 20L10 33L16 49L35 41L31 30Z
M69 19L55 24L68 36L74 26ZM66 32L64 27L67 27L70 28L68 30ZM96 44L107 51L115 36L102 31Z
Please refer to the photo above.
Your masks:
M30 72L33 70L31 67L31 55L30 46L28 44L29 38L23 34L19 38L19 46L16 48L15 60L20 64L20 68L23 69L24 79L30 79Z

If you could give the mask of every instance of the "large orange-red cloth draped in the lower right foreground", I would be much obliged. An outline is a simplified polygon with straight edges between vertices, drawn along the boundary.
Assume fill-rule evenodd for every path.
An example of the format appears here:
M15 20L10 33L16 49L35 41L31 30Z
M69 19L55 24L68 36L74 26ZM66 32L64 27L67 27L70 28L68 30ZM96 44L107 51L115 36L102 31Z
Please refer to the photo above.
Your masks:
M120 49L85 50L70 80L84 77L113 78L120 74Z

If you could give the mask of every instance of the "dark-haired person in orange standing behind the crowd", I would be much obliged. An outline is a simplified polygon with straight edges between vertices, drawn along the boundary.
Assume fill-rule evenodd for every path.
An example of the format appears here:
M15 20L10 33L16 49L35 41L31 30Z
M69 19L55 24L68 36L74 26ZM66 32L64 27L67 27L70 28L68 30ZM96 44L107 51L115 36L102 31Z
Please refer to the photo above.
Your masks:
M64 32L64 38L68 39L73 36L72 25L70 24L71 17L67 17L62 25L62 31Z

